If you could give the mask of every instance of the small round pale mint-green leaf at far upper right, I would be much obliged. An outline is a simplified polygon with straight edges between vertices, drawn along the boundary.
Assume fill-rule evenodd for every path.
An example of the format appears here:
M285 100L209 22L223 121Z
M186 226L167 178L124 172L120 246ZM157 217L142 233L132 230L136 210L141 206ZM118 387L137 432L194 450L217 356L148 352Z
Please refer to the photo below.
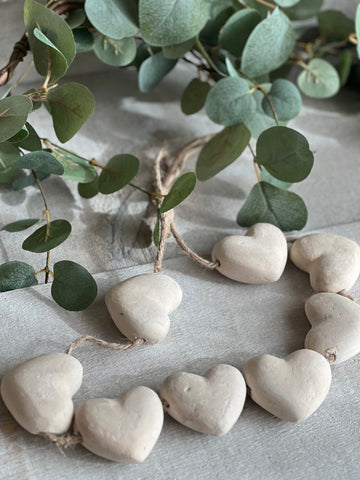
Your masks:
M299 88L309 97L329 98L340 89L340 77L336 69L326 60L314 58L297 79Z

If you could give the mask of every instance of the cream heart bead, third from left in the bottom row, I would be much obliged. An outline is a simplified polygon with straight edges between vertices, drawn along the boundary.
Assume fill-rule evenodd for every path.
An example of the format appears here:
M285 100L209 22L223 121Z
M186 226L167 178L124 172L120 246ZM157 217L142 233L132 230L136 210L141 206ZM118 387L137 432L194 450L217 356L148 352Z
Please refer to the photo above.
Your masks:
M241 372L217 365L204 376L178 372L160 388L166 412L182 425L209 435L224 435L238 420L246 397Z

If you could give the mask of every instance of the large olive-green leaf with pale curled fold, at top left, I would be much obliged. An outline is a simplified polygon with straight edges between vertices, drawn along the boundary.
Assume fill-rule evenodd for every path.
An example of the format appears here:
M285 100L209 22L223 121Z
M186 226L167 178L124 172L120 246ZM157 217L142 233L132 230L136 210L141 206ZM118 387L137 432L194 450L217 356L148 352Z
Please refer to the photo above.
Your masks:
M45 76L50 66L50 83L53 83L75 57L71 28L60 15L34 0L25 0L24 22L36 70Z

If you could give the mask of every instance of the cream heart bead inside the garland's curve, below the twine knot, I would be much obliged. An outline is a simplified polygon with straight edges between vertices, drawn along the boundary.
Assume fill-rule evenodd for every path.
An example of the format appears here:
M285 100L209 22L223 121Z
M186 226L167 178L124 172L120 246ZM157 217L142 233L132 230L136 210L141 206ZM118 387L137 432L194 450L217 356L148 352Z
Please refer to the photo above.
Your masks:
M177 282L160 273L145 273L118 283L106 295L111 318L129 340L159 343L170 328L169 314L181 303Z

